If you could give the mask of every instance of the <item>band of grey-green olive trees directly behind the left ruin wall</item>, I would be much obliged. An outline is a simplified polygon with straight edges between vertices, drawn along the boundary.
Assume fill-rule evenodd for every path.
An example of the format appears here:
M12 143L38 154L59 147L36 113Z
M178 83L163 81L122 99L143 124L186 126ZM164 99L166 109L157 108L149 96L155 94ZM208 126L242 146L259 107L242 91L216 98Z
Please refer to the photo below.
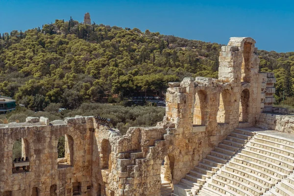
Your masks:
M0 115L0 123L5 119L8 122L20 123L25 122L25 118L31 117L47 117L49 121L64 119L65 117L81 116L101 116L110 119L110 126L118 128L123 134L131 126L154 126L157 122L163 120L165 115L164 107L153 106L133 106L124 107L122 105L101 104L101 103L83 103L74 110L65 110L58 112L60 103L50 103L44 112L33 112L24 107L18 107L6 115Z

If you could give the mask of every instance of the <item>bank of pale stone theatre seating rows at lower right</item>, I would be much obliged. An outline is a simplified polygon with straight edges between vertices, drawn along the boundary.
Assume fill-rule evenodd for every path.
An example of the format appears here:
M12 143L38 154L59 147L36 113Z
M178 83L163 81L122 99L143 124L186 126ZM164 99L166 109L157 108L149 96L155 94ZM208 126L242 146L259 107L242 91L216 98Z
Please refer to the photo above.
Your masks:
M244 131L242 135L249 134L252 132ZM294 142L259 132L203 185L197 195L294 196L293 170Z

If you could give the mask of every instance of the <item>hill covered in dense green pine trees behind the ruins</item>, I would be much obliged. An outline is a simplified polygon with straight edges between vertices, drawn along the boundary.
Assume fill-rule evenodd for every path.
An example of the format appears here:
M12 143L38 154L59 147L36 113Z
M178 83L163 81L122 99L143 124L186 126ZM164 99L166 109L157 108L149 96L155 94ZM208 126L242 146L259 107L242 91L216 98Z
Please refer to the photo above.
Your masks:
M73 109L106 97L111 102L114 95L121 100L161 96L169 81L217 77L220 49L220 44L138 28L56 20L0 35L0 93L36 111L50 102ZM261 71L277 77L277 100L283 91L293 96L292 53L259 53Z

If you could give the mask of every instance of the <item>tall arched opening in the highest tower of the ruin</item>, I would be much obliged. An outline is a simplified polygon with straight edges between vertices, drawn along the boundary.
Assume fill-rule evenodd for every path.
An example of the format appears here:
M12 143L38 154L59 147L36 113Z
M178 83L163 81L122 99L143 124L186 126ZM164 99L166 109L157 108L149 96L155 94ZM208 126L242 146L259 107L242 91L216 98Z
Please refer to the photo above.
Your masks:
M243 62L241 66L241 82L250 82L251 47L252 47L252 43L250 42L244 43Z

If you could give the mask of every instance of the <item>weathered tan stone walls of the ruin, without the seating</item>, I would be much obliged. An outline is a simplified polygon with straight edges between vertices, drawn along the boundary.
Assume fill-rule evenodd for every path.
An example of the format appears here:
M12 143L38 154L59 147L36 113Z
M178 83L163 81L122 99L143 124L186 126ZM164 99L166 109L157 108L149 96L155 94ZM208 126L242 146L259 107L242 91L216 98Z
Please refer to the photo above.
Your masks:
M262 112L271 111L275 78L258 72L254 44L252 38L231 38L221 48L218 79L170 82L166 117L155 127L131 127L121 135L94 117L3 125L0 193L159 196L163 160L165 179L173 186L236 127L260 124L261 116L267 119ZM62 135L69 138L66 166L57 161ZM12 173L12 146L20 138L27 144L30 169Z

